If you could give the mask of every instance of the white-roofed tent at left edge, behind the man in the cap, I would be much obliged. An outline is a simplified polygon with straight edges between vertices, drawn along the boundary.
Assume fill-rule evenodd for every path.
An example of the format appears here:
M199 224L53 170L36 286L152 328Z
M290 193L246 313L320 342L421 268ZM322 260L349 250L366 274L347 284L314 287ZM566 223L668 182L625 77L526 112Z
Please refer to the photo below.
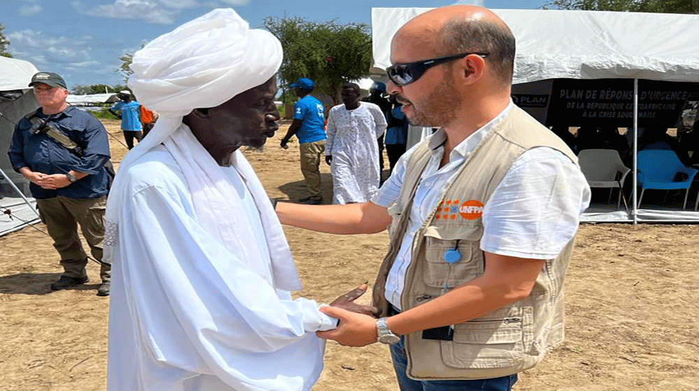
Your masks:
M7 155L15 124L38 105L29 88L38 70L28 61L0 57L0 236L38 221L29 182L13 170Z

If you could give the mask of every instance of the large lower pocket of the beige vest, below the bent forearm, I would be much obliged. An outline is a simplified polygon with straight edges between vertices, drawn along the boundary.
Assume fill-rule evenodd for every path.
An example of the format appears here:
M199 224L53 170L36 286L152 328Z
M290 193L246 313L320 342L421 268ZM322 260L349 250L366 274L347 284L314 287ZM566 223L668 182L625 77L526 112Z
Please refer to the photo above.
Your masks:
M440 341L442 361L459 369L512 367L524 360L532 341L533 311L521 316L493 319L489 316L454 325L454 339Z

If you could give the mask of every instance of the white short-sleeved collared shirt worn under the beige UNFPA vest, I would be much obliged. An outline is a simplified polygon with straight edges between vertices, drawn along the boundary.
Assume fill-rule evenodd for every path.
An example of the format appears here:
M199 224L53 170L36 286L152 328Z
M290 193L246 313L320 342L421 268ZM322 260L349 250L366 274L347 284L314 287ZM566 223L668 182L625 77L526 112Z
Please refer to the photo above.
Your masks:
M507 108L496 118L457 145L449 154L449 163L440 168L444 156L442 133L428 139L431 158L422 172L410 209L408 228L401 249L386 281L386 299L401 310L401 293L405 272L412 259L412 240L435 205L447 191L447 182L473 149L493 127L514 107ZM391 206L401 195L405 164L415 152L412 147L396 163L391 177L384 182L372 202ZM483 251L519 258L556 258L565 244L575 236L580 214L589 206L590 188L587 181L568 156L548 147L530 149L517 158L502 182L493 191L483 209L484 233L480 242Z

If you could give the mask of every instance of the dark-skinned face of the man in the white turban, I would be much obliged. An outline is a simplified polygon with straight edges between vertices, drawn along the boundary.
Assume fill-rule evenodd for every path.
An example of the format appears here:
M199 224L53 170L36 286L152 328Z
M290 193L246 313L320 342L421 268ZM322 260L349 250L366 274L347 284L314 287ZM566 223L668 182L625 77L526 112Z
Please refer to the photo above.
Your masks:
M279 128L276 93L277 79L273 77L208 109L206 129L196 131L196 138L219 164L239 147L263 146Z

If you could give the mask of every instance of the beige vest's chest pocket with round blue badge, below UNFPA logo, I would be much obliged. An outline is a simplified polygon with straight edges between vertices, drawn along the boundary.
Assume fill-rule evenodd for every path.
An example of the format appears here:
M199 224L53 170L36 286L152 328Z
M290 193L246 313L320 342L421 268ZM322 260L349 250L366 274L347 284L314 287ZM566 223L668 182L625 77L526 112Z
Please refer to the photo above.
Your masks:
M458 251L459 260L445 260L447 251ZM483 252L479 242L441 239L426 235L423 281L432 288L454 288L483 274Z

